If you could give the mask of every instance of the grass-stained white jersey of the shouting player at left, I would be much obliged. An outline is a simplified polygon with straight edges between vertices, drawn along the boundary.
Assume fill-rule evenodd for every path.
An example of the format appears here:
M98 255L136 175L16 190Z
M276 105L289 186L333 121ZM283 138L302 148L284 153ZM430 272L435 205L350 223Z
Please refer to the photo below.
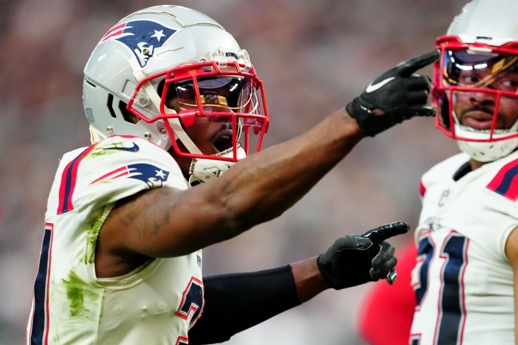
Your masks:
M27 344L182 344L204 304L201 250L97 278L95 245L118 200L185 190L176 161L145 139L112 136L61 159L27 324ZM128 229L131 231L131 229Z

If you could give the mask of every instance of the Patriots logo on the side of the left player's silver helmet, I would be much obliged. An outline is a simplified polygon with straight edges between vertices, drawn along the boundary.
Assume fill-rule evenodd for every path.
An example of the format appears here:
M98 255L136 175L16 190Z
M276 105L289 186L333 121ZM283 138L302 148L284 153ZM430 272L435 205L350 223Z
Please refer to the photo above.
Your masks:
M135 54L140 67L145 67L155 49L162 47L176 32L151 20L136 20L113 27L100 41L111 38L124 43Z

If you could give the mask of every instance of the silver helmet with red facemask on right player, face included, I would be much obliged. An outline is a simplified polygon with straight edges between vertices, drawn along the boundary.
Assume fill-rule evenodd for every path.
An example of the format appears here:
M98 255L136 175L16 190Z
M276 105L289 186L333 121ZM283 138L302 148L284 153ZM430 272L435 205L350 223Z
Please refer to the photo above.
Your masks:
M473 0L436 42L436 125L481 162L518 147L516 13L516 0Z

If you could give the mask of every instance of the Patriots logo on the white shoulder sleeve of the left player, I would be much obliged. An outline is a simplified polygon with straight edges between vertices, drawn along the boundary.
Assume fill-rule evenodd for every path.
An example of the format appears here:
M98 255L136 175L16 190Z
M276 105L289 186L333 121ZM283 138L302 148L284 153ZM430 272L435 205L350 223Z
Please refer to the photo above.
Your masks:
M116 178L122 177L138 179L146 183L151 189L162 187L164 182L167 181L168 176L168 171L155 167L152 164L137 163L130 164L128 166L124 166L119 169L110 171L109 173L97 178L95 181L91 183L91 185L101 180L111 181Z

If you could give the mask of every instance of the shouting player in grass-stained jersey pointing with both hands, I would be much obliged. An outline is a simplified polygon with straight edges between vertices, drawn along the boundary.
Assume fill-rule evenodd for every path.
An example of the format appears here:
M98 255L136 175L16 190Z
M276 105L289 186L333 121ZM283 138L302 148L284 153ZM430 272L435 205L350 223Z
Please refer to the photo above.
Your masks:
M347 111L259 152L263 82L221 25L178 6L123 18L84 69L92 145L57 169L27 343L221 342L325 289L394 282L385 240L405 222L255 273L203 277L201 249L281 215L365 136L435 115L414 72L437 58L398 65Z

